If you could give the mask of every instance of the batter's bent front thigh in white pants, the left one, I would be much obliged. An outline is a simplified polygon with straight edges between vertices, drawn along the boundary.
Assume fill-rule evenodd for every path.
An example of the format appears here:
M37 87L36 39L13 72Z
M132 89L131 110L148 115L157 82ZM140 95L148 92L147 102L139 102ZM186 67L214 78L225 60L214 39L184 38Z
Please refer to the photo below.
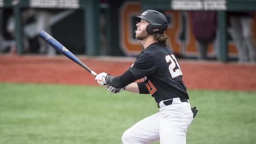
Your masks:
M149 144L159 140L159 113L134 124L122 135L123 144Z

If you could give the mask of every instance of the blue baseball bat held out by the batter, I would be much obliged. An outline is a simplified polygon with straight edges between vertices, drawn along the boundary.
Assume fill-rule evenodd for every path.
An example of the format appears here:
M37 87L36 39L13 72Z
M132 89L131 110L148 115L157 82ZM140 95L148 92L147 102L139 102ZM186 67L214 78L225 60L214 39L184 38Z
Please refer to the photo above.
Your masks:
M86 71L90 72L93 76L96 76L97 73L93 72L88 66L86 66L81 60L79 60L76 56L73 55L67 48L65 48L60 42L54 39L52 36L47 34L44 30L41 30L38 35L46 41L50 46L58 50L60 53L68 57L70 60L73 60L75 63L79 64Z

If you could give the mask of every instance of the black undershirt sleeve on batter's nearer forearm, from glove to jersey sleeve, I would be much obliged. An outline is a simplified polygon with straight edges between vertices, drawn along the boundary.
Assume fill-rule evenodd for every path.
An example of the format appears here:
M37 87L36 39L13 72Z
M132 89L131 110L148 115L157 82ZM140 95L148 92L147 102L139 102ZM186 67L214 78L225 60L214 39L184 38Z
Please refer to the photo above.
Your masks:
M107 83L114 88L123 88L124 86L133 83L137 78L133 75L130 70L127 70L120 76L108 76Z

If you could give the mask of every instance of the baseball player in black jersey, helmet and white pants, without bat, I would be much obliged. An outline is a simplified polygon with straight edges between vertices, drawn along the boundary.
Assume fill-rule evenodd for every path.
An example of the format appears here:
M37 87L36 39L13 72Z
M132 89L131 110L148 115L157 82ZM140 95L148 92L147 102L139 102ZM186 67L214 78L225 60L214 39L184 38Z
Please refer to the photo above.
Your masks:
M95 80L112 92L124 89L150 94L157 102L159 112L126 130L122 135L123 144L149 144L157 140L161 144L185 144L193 112L179 62L166 47L167 19L154 10L147 10L134 18L138 22L134 34L145 50L122 75L114 77L102 72ZM138 79L144 82L134 83ZM197 110L192 109L195 115Z

